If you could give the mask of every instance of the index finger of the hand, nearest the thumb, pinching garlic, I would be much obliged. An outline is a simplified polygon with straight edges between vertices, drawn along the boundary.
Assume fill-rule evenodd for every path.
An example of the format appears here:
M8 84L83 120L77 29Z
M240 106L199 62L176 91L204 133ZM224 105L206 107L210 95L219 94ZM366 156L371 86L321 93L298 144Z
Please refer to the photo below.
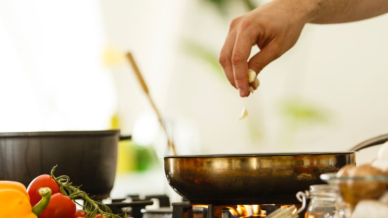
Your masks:
M248 84L248 58L254 44L254 40L249 40L250 37L244 33L238 33L234 42L232 53L232 68L236 87L239 89L240 96L246 97L249 95ZM253 42L253 43L252 43Z

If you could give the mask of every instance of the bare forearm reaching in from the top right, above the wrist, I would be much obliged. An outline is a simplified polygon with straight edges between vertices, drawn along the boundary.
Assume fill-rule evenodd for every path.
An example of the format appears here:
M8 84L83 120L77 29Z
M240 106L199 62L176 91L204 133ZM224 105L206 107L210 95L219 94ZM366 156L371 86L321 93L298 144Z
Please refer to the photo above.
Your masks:
M375 17L388 12L388 0L276 0L299 7L306 22L341 23ZM303 11L303 12L302 12Z

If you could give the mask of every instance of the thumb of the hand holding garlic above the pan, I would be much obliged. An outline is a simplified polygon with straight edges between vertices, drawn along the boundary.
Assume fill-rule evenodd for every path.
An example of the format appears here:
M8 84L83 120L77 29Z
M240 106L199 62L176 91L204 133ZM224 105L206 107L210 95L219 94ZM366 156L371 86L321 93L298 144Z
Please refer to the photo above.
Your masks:
M249 60L248 67L258 74L265 66L281 55L278 46L275 46L274 43L269 43Z

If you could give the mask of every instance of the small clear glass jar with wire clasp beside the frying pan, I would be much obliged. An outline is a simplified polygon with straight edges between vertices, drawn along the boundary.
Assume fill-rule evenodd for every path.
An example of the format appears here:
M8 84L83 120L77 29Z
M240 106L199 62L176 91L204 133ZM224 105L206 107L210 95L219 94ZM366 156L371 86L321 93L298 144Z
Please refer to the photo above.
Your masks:
M340 218L341 209L338 201L338 190L331 185L311 185L305 198L310 199L305 214L306 218Z

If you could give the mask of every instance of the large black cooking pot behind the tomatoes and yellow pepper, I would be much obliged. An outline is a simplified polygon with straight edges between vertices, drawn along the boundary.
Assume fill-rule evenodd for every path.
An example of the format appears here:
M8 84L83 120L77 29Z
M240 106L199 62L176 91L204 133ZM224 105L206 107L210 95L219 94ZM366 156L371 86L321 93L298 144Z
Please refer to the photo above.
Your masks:
M130 138L130 137L123 137ZM119 130L0 133L0 180L28 184L41 174L68 175L96 199L109 197Z

